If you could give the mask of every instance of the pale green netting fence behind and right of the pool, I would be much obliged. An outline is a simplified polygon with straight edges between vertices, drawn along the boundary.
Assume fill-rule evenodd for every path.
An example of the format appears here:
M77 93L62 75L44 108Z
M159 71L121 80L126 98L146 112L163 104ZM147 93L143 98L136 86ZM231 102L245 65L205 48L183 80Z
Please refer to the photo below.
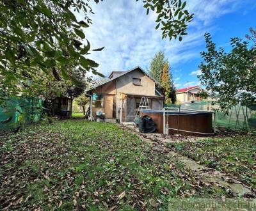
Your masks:
M195 109L201 111L209 111L218 109L218 104L211 105L211 102L193 102L184 104L170 104L168 107L177 107L184 109ZM235 105L230 109L228 114L216 111L216 125L218 127L227 127L230 129L256 129L256 104L245 106Z

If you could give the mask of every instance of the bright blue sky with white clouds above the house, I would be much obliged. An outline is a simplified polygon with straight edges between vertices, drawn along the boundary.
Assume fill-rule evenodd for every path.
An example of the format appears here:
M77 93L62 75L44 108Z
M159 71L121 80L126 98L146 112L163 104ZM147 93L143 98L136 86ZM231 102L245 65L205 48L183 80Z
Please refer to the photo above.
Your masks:
M135 66L147 71L154 55L163 51L176 88L200 85L197 75L205 33L228 51L230 38L244 38L249 27L256 27L256 0L187 0L187 9L195 17L182 42L162 40L161 30L155 29L156 13L146 15L142 0L91 1L90 6L95 13L90 15L93 24L84 33L92 49L105 47L89 55L100 64L99 72L108 77L114 70Z

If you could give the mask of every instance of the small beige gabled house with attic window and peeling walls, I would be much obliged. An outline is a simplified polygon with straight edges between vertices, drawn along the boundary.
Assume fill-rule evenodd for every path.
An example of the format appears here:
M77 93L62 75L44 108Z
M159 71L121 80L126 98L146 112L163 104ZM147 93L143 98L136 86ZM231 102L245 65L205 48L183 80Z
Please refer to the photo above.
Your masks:
M148 98L150 109L163 109L163 95L155 81L140 66L128 71L113 71L104 81L86 93L92 95L92 113L101 109L106 118L123 122L134 121L141 97Z

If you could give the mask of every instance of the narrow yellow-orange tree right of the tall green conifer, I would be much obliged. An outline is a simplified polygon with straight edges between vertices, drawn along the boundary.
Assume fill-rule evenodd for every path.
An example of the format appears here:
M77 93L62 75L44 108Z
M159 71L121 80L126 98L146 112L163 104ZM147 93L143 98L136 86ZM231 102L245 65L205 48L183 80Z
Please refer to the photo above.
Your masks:
M166 62L163 68L163 74L161 79L161 86L164 93L165 104L174 104L176 102L175 87L173 81L171 81L169 65Z

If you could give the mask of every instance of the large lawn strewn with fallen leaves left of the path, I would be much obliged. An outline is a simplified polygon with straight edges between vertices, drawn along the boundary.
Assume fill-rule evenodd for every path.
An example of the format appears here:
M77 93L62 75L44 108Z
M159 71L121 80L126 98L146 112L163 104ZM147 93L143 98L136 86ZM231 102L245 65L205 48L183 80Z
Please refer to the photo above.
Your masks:
M0 209L167 210L228 196L114 123L61 120L0 141Z

